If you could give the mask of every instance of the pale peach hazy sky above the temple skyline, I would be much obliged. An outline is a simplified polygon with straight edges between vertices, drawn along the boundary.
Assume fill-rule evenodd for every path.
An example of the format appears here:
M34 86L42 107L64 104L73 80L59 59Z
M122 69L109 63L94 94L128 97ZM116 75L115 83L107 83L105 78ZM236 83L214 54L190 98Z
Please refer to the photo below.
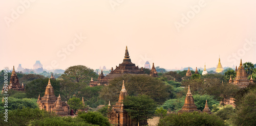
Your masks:
M256 1L0 1L0 69L256 64Z

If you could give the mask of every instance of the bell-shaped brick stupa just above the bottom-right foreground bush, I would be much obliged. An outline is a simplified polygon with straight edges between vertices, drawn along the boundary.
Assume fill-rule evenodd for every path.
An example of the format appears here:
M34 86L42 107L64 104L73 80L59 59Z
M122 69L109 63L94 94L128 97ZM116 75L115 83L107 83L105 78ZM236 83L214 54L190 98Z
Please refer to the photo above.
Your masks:
M185 98L185 103L184 103L182 109L178 111L178 113L194 112L194 111L201 112L200 110L197 109L197 106L194 103L194 98L193 98L192 93L190 92L190 87L188 85L188 90L187 90L187 95L186 95L186 98Z

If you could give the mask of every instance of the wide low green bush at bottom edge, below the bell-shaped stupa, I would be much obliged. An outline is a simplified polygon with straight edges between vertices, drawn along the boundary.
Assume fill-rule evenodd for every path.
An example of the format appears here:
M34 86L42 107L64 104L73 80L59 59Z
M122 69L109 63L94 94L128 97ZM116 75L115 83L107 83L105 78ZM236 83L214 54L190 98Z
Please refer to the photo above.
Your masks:
M225 122L218 116L199 112L185 112L180 114L169 114L159 120L159 126L171 125L226 125Z

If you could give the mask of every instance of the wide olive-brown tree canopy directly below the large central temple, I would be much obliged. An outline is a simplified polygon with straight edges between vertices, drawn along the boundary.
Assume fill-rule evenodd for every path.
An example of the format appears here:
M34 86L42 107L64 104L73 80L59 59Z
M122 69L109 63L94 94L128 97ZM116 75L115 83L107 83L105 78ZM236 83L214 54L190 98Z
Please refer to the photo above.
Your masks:
M169 92L172 91L172 87L164 84L157 78L148 75L124 74L112 79L109 86L104 86L100 91L100 98L106 103L109 101L117 102L122 87L122 80L124 80L125 88L130 96L145 94L157 103L163 103L168 99Z

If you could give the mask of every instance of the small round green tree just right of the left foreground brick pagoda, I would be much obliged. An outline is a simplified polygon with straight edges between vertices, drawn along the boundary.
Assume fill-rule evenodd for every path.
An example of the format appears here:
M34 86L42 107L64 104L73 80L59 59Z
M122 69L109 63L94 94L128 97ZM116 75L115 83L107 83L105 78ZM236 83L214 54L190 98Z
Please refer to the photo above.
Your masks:
M68 101L68 104L70 106L70 109L74 110L74 113L76 112L77 109L82 109L85 106L83 106L82 101L79 98L71 98Z

